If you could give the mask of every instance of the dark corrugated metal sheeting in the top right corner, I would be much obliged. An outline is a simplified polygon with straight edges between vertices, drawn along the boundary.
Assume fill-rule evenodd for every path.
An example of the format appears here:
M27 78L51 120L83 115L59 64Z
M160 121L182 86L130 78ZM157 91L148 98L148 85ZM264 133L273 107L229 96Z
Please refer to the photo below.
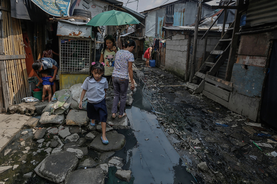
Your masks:
M249 0L246 26L258 26L273 22L277 22L276 0Z

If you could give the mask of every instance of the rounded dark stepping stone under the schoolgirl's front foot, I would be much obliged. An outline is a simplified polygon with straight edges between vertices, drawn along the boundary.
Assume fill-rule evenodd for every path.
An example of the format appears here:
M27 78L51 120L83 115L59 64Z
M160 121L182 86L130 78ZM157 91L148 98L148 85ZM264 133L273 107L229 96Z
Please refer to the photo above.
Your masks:
M97 135L90 143L89 147L98 151L118 151L122 149L126 143L125 136L120 133L106 132L109 144L103 144L101 136L101 133Z

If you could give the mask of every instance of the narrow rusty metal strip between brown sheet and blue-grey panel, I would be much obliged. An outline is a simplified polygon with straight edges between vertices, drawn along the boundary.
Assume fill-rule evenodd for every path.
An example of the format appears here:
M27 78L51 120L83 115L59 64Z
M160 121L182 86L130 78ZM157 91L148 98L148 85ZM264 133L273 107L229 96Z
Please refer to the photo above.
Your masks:
M239 55L236 60L236 63L256 67L265 67L267 63L267 56Z

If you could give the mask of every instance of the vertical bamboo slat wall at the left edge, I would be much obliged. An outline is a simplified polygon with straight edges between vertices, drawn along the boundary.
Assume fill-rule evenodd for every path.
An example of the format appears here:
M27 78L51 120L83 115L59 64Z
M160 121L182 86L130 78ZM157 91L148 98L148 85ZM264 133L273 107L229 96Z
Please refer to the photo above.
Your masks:
M7 94L3 95L7 98L3 98L0 108L3 112L3 108L7 110L9 105L21 103L22 98L29 97L30 90L20 21L11 17L10 1L1 0L1 6L7 8L2 10L1 20L4 45L4 55L0 58L1 88L3 94Z

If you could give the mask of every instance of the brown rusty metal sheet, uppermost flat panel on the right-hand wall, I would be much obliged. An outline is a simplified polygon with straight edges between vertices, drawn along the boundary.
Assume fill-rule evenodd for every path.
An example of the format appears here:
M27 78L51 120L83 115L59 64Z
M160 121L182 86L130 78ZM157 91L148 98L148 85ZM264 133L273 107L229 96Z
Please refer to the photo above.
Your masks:
M267 56L269 51L269 33L242 35L239 45L240 55Z

